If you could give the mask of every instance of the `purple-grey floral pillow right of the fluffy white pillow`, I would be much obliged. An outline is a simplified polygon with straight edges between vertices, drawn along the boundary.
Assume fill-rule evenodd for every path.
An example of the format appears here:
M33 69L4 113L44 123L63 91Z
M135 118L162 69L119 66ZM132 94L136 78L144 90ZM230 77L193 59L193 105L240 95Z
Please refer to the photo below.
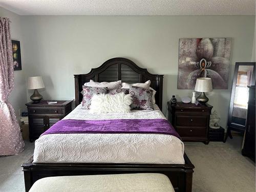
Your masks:
M153 90L131 87L129 94L133 98L131 109L153 110Z

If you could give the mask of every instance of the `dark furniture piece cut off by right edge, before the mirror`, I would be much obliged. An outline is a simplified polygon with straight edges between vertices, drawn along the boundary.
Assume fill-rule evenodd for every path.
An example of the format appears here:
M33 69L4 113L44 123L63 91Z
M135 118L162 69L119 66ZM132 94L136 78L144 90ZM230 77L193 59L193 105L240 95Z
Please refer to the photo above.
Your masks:
M255 161L255 86L248 86L249 99L242 154Z

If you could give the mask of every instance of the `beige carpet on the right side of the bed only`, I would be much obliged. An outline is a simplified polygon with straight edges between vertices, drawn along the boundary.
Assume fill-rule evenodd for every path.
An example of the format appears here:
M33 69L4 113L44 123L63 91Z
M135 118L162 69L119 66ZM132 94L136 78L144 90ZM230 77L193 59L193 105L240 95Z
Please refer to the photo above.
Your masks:
M255 164L241 155L241 136L209 145L185 142L185 151L195 165L194 192L253 192Z

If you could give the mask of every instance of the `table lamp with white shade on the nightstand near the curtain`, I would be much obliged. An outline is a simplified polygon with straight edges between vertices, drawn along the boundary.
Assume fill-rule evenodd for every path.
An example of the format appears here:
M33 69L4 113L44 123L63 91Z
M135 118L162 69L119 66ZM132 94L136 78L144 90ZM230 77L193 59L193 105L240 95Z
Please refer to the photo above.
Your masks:
M42 96L38 93L37 89L45 88L44 81L42 81L41 76L37 77L28 77L28 89L34 89L33 95L30 96L30 99L34 101L34 103L40 102Z

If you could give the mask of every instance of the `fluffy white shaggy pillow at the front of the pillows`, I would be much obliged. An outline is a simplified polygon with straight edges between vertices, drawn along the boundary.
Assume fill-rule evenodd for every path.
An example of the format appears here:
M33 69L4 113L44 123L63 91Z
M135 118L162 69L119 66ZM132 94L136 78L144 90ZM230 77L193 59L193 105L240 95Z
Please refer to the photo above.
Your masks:
M90 113L130 113L130 105L133 98L131 95L125 95L123 92L115 95L98 94L91 100Z

